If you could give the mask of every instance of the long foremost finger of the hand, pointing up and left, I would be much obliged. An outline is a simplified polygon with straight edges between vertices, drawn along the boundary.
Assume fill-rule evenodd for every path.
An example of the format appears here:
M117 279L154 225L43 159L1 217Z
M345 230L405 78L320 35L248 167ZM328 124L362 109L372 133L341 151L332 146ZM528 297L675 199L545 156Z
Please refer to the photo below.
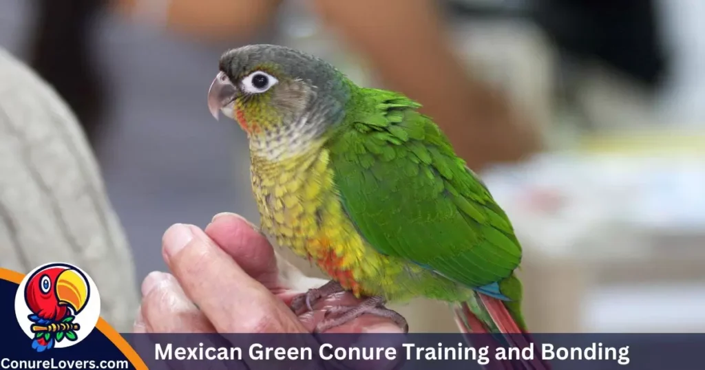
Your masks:
M173 276L219 333L305 332L281 301L200 228L171 226L162 244Z

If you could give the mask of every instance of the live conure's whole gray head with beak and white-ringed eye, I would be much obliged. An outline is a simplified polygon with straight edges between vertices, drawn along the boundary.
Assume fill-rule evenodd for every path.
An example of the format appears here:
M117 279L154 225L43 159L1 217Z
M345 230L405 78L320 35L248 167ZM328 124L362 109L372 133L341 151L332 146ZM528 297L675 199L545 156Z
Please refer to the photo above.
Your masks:
M216 119L223 112L238 121L253 149L295 151L345 113L349 80L301 51L249 45L223 54L219 68L208 92L209 110Z

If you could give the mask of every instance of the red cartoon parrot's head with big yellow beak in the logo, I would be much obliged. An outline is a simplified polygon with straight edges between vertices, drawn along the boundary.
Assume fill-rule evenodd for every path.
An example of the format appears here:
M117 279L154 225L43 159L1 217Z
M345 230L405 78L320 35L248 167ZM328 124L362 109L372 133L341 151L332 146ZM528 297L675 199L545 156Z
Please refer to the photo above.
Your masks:
M25 288L27 307L40 318L49 320L78 314L88 302L88 295L88 280L83 273L63 264L35 272Z

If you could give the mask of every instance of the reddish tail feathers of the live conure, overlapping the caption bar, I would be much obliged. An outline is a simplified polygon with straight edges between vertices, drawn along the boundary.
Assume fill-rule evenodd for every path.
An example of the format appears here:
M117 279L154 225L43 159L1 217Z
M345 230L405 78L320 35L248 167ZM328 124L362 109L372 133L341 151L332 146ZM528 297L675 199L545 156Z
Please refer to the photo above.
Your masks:
M478 314L474 314L477 312ZM478 315L480 317L478 317ZM482 318L482 319L481 319ZM472 302L461 302L455 307L455 321L460 330L465 334L485 334L466 338L473 345L489 345L490 353L495 353L495 348L502 347L528 347L534 341L531 335L520 328L520 325L513 319L504 302L489 295L476 292ZM492 328L487 323L491 323ZM496 333L499 331L499 333ZM483 343L477 343L482 341ZM494 355L492 356L494 359ZM550 370L551 366L541 360L540 351L534 345L534 359L521 361L491 361L486 369L506 369L506 370Z

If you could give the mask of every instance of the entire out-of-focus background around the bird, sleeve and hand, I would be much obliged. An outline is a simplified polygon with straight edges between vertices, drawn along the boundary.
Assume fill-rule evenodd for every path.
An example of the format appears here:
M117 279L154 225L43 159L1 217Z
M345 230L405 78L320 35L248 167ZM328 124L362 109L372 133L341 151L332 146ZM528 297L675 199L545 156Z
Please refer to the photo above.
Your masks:
M532 331L705 330L704 1L376 3L0 0L0 48L78 117L136 283L172 223L258 220L245 134L205 97L223 51L272 43L424 104L515 225Z

